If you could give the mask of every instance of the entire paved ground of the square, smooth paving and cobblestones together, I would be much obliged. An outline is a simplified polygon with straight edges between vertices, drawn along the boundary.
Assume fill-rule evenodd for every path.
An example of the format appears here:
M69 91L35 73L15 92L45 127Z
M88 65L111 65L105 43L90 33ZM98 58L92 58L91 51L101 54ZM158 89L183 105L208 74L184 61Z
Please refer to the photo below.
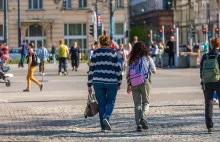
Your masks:
M111 124L101 133L98 116L85 119L87 69L57 76L57 65L46 66L44 89L26 86L26 69L12 68L12 86L0 84L0 141L220 141L220 110L214 107L215 133L207 134L198 69L158 70L153 76L149 130L135 132L132 97L126 84L117 97ZM41 76L36 76L42 79Z

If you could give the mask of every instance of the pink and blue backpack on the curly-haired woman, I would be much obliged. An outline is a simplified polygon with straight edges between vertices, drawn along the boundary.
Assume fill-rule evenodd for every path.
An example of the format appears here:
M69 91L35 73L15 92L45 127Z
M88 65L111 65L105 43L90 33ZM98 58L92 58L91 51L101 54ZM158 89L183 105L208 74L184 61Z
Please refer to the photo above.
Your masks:
M149 78L148 68L144 63L145 61L145 58L141 58L129 66L131 86L141 85Z

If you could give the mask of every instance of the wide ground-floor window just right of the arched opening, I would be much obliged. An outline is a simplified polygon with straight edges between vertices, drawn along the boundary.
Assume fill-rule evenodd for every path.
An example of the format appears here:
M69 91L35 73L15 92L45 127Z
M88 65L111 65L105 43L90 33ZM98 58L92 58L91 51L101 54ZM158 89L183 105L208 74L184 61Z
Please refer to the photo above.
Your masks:
M76 41L82 51L87 49L86 24L64 24L64 39L68 47Z

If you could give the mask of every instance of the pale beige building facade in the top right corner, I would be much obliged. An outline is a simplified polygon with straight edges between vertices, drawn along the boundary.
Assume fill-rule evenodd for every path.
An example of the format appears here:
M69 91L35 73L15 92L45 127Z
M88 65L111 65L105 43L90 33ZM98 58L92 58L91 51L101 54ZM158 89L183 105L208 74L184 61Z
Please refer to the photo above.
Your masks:
M206 42L219 36L219 0L174 0L174 24L179 27L180 43Z

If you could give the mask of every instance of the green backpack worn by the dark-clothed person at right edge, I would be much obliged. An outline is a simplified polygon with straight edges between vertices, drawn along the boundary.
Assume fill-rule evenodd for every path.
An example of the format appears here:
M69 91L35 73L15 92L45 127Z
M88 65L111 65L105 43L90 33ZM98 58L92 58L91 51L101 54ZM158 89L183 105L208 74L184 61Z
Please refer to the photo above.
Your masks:
M202 69L202 80L203 83L213 83L218 82L220 80L220 69L218 64L218 55L210 55L215 56L214 59L209 59L209 55L206 54L206 60L203 62Z

